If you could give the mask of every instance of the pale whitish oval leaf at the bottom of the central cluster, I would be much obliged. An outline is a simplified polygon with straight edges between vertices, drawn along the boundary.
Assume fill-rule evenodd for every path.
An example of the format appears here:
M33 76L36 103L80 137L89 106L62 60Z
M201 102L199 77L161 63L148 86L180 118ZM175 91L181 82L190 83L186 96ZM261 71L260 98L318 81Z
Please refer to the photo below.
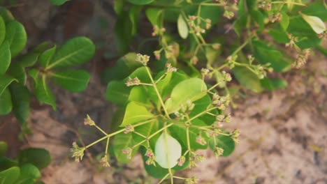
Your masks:
M177 160L182 155L182 146L175 138L163 132L157 140L154 154L158 164L169 169L177 164Z

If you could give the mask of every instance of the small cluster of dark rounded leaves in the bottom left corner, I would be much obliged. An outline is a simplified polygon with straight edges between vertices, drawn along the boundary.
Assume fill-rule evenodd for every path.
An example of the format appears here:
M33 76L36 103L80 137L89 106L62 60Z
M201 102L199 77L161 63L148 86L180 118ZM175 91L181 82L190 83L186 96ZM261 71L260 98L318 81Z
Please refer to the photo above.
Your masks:
M18 153L17 158L5 156L8 145L0 141L0 183L31 184L43 183L41 169L50 164L50 153L43 148L26 148Z

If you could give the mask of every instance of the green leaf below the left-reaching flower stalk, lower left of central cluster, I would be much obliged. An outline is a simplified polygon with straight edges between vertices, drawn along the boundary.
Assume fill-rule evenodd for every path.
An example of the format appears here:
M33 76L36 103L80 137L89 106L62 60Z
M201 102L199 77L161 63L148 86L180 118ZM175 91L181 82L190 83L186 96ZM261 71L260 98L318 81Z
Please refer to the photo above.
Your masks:
M126 154L122 153L122 150L125 148L129 148L133 145L134 141L132 133L120 133L118 135L115 135L112 147L115 153L115 158L117 158L118 162L122 164L128 164L129 162L131 162L131 159L136 155L136 153L138 153L138 148L140 148L140 146L133 148L133 151L131 153L131 159L128 159Z

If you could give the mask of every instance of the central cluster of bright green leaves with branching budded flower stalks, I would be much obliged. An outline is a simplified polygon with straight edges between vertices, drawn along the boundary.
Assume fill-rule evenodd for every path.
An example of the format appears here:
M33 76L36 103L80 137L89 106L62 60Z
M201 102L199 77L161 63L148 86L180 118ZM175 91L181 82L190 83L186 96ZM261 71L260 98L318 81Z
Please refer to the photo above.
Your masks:
M208 88L204 82L205 70L202 79L189 77L168 63L165 70L154 75L147 67L149 59L147 55L129 53L118 61L118 65L138 67L127 76L116 75L108 84L106 98L121 108L115 119L119 129L107 133L88 116L85 125L95 126L104 136L85 147L74 143L71 151L75 160L82 159L86 148L106 140L101 162L110 166L108 144L113 137L111 148L119 162L130 162L140 151L149 174L163 180L170 177L173 181L180 178L174 176L175 171L195 167L205 159L196 153L198 149L210 147L217 157L230 155L239 132L223 128L224 123L231 121L226 113L229 95L218 95L215 91L218 84ZM228 81L231 76L224 73L220 83ZM196 178L182 179L196 181Z

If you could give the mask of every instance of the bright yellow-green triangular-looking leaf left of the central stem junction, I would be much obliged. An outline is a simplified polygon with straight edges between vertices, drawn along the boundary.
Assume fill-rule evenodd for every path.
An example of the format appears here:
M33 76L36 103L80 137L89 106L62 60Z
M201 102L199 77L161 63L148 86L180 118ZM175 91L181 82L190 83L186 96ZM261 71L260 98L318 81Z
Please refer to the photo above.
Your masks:
M143 105L139 105L136 102L129 102L126 106L124 120L120 126L125 127L126 125L133 125L153 117L154 115L143 107Z

